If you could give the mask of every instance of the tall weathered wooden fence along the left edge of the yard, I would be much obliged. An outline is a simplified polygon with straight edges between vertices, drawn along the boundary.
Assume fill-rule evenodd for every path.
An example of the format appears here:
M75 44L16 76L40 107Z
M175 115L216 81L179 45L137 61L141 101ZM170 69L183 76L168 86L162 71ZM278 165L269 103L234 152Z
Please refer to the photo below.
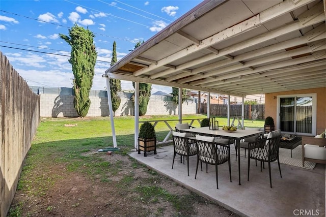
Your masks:
M0 217L5 217L40 121L40 97L1 51L0 61Z

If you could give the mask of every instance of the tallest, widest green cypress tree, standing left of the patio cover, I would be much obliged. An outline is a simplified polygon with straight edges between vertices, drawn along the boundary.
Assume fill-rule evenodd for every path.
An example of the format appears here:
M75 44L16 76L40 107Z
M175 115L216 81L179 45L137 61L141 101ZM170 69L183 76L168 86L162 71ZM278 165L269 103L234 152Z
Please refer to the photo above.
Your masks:
M79 117L85 117L91 105L89 99L93 85L94 68L97 52L93 39L95 35L87 28L75 24L68 30L69 36L59 34L71 46L69 63L72 66L74 107Z

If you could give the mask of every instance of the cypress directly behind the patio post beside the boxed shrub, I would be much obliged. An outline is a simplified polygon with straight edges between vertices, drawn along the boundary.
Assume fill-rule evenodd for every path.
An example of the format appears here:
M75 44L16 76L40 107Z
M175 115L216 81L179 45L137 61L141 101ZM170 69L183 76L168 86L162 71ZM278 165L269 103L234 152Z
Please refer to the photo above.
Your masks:
M134 49L139 47L143 42L138 41L134 45ZM134 50L133 49L133 50ZM134 82L132 82L132 86L134 88ZM152 84L147 83L139 83L139 115L143 116L147 112L147 105L149 102L149 98L151 97L151 90L152 90ZM132 97L134 99L134 96Z

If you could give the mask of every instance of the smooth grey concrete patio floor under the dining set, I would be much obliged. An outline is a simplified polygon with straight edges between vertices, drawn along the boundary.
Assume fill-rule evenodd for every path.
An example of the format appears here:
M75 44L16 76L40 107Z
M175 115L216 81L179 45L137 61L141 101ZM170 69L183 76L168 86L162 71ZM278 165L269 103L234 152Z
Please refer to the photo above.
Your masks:
M325 165L317 164L313 170L281 164L282 178L278 165L271 163L271 181L269 186L268 165L260 172L260 164L250 164L250 180L247 180L248 158L241 157L241 185L238 184L238 162L235 161L234 145L231 145L230 182L228 164L219 165L219 189L216 189L214 166L203 165L203 171L195 179L197 156L189 158L189 176L187 164L180 164L176 156L173 169L173 145L157 148L138 154L129 153L135 160L147 165L158 173L168 176L203 197L215 200L223 207L241 216L325 216Z

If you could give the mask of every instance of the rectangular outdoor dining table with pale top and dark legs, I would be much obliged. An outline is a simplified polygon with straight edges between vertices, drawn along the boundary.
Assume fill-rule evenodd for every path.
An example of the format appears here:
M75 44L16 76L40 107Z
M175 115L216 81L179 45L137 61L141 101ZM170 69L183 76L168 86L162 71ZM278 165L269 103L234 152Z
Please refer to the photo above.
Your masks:
M214 137L221 137L226 139L233 139L235 141L235 145L237 147L238 154L238 171L239 171L239 185L241 185L241 178L240 178L240 141L242 139L252 137L255 135L261 134L262 136L264 133L262 131L255 131L255 130L236 130L233 132L228 132L222 130L220 127L219 130L210 130L209 127L203 128L192 128L192 129L184 129L180 130L181 132L187 132L192 134L198 134L202 136L214 136Z

